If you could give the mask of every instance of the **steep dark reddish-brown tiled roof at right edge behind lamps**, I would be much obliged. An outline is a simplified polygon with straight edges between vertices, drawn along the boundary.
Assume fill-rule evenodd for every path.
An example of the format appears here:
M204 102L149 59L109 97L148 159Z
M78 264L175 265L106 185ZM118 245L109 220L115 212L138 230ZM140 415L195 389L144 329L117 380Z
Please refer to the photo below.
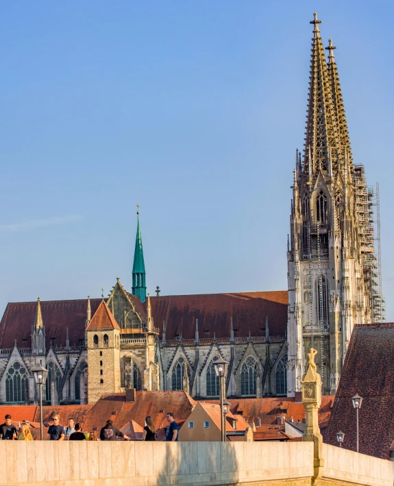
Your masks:
M356 411L352 396L362 396L359 450L389 459L394 439L394 323L354 327L328 428L323 437L336 445L335 434L345 433L343 447L356 450Z

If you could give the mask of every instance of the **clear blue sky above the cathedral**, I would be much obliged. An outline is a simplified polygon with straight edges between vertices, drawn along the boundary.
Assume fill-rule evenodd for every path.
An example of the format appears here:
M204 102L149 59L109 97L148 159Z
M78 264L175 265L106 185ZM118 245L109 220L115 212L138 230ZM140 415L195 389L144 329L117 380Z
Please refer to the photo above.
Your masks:
M1 2L0 314L132 285L286 290L313 11L354 160L380 183L394 320L392 1Z

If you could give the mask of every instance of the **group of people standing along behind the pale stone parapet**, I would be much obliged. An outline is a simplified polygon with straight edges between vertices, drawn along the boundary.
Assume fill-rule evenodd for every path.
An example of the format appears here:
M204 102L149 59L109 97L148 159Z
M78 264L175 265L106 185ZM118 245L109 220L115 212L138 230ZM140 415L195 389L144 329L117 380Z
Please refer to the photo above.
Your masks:
M167 442L178 441L178 424L174 420L172 412L168 412L166 415L169 426L166 431ZM106 425L100 431L99 437L97 437L96 430L92 432L82 432L82 426L75 423L73 418L69 418L67 426L64 427L60 424L60 416L53 416L53 424L49 426L48 434L50 440L117 440L121 437L125 440L131 440L123 432L114 427L112 420L107 420ZM32 433L30 432L29 422L24 420L20 422L19 428L16 428L12 424L12 417L8 413L5 415L5 422L0 425L0 439L3 440L34 440ZM143 430L144 441L155 441L158 439L156 434L156 426L150 415L145 418L145 426Z

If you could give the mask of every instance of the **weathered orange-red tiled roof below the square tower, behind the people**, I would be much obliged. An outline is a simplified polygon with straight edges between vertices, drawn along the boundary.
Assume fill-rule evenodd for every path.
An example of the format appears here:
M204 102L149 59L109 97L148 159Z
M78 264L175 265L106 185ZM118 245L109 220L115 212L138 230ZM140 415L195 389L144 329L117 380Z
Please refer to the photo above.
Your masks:
M104 395L85 415L84 429L101 429L107 420L121 429L130 420L143 426L145 417L150 415L156 429L167 424L166 413L172 411L175 419L186 419L197 402L186 392L136 392L134 402L126 402L124 393ZM113 414L112 412L116 412Z

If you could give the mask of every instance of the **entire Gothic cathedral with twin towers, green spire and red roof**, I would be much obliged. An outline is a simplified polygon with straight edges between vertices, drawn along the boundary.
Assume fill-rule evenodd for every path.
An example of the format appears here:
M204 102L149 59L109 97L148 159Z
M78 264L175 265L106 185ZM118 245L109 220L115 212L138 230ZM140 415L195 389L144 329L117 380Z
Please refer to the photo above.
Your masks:
M356 323L379 319L371 205L354 164L334 47L325 60L315 14L304 156L297 152L288 243L288 291L147 294L138 216L132 289L105 298L9 303L0 322L0 403L37 399L30 370L49 370L44 401L95 402L124 389L219 397L294 396L310 346L334 393ZM137 213L138 214L138 213ZM379 300L380 299L380 300Z

